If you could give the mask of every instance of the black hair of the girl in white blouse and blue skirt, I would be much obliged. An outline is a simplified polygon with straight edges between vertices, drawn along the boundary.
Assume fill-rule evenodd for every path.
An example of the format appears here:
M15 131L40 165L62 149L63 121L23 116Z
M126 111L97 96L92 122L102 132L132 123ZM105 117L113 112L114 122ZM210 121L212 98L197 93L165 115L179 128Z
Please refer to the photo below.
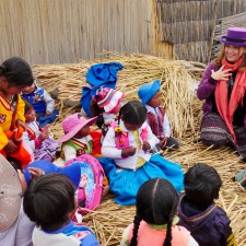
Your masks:
M120 118L130 125L143 124L147 119L147 108L138 101L130 101L120 108L118 125Z

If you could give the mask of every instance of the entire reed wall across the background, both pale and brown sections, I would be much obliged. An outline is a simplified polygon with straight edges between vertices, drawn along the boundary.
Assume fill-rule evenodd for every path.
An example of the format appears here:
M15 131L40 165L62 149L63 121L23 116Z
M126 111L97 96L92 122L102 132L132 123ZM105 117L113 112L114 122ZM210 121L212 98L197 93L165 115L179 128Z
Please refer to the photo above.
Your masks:
M215 25L245 11L245 0L1 0L0 60L72 63L115 50L208 62Z

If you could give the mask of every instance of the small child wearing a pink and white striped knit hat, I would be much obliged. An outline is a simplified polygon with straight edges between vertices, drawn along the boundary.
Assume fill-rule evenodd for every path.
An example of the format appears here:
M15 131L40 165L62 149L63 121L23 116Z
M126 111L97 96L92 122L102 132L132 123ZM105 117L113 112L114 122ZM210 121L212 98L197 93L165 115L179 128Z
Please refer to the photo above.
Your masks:
M93 96L90 108L93 116L97 116L96 125L106 136L109 125L117 119L124 93L110 87L101 87ZM103 141L102 141L103 142Z

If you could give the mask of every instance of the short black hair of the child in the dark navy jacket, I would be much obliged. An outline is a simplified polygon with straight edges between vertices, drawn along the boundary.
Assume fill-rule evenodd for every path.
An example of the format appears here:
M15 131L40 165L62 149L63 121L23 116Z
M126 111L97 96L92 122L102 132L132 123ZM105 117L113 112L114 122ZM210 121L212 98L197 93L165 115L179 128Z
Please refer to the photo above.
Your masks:
M198 163L187 171L184 184L189 201L198 206L210 206L219 198L222 180L215 168Z

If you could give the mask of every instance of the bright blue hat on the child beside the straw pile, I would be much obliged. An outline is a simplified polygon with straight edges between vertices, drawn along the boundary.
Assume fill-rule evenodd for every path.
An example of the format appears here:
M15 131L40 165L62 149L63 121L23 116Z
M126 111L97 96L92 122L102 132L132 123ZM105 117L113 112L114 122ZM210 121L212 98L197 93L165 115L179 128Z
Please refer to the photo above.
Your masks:
M154 96L156 92L160 91L160 80L155 80L152 83L143 84L138 91L139 98L142 101L143 104L148 104L148 102Z

